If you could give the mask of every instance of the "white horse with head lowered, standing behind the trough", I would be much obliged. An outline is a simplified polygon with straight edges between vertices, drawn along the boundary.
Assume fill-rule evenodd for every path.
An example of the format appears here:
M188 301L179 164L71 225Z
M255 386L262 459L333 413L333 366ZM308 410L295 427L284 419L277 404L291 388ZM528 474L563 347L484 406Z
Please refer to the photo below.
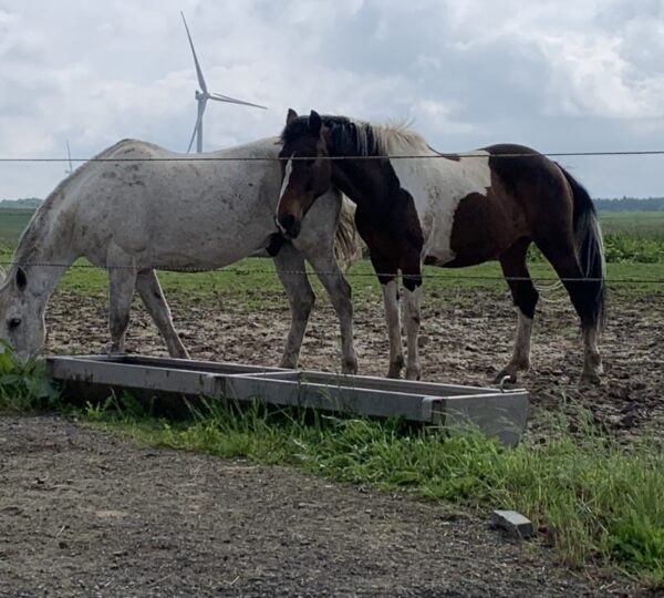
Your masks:
M307 235L293 243L276 236L279 150L277 138L266 138L185 156L125 140L102 152L51 193L23 233L3 282L0 272L0 339L21 357L38 353L46 302L66 269L85 257L108 271L111 352L124 351L138 290L169 354L188 358L155 269L211 270L278 249L273 258L291 307L281 365L297 367L315 299L307 259L340 319L342 371L356 372L351 288L335 259L335 237L344 259L354 254L352 215L334 189L311 210Z

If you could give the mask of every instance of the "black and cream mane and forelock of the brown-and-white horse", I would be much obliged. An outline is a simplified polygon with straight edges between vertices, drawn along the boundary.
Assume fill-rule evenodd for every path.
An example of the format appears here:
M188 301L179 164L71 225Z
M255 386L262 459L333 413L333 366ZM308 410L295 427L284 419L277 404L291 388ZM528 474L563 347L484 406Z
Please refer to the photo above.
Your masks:
M347 116L322 115L323 125L330 130L332 145L351 147L359 156L392 156L430 152L426 141L408 127L407 122L372 124ZM287 144L309 131L309 116L298 116L281 133Z

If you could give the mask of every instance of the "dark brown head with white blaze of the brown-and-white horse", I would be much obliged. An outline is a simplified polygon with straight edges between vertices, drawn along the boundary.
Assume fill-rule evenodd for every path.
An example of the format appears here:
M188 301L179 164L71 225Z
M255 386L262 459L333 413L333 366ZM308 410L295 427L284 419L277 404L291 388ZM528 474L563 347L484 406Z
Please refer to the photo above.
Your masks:
M294 239L309 208L332 185L329 130L313 110L309 116L298 116L291 109L281 141L282 184L274 220L284 237Z

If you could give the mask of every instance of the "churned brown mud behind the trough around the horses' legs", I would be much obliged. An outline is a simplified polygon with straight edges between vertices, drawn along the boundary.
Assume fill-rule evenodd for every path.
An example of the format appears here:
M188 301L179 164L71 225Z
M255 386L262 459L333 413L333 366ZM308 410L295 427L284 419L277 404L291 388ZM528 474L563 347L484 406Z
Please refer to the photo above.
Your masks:
M169 297L176 329L194 359L278 365L290 322L279 295L269 308L242 300L204 296ZM547 415L563 411L571 430L577 406L595 424L625 442L664 430L664 292L609 292L609 324L602 339L605 375L596 388L579 388L582 346L577 317L564 290L542 292L532 338L532 369L519 386L531 393L529 434L548 433ZM260 296L260 291L257 291ZM261 299L264 299L261 298ZM547 302L547 299L549 302ZM356 301L354 338L360 372L384 375L388 342L378 301ZM149 317L136 302L127 350L166 355ZM426 381L487 385L511 355L516 315L507 295L459 288L425 296L421 332L422 377ZM48 312L48 349L59 353L101 352L108 340L103 300L58 293ZM339 328L323 295L312 312L300 365L339 371Z

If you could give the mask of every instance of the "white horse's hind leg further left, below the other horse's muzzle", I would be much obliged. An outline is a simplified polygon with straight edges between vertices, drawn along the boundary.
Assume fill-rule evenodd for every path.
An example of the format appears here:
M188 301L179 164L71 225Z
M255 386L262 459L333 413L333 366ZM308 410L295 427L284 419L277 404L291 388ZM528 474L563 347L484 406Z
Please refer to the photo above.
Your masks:
M307 277L304 257L290 243L283 244L279 254L274 256L274 265L291 308L291 326L280 367L294 369L298 367L300 348L315 295Z

